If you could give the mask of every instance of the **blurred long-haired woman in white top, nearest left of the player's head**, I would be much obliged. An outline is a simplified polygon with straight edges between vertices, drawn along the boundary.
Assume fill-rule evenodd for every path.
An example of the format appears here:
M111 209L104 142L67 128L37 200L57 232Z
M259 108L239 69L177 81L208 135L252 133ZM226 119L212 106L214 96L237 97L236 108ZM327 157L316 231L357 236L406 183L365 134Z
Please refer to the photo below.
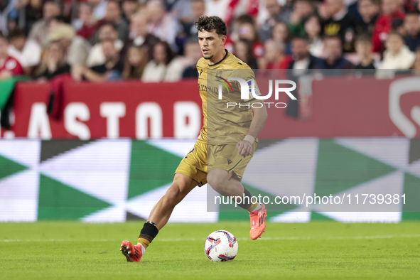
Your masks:
M153 59L147 63L141 80L143 82L175 82L181 80L183 66L166 42L154 45Z

